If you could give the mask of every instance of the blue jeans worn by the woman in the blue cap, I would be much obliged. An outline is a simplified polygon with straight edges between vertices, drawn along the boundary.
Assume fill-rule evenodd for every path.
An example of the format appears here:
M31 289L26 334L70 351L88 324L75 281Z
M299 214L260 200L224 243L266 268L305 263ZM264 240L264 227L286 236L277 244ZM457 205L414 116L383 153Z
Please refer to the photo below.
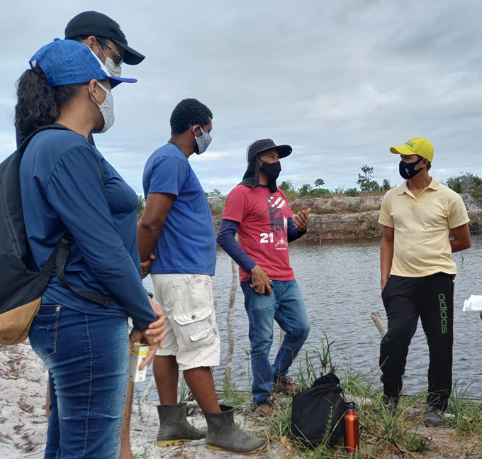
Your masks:
M28 338L49 375L45 459L117 458L128 382L125 319L43 299Z

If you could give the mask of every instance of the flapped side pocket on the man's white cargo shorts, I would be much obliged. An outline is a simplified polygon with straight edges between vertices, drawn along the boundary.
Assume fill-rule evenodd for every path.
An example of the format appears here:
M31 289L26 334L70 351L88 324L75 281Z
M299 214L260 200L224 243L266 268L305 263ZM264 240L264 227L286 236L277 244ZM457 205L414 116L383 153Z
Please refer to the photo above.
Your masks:
M215 340L211 306L196 311L174 314L178 329L179 350L197 349Z

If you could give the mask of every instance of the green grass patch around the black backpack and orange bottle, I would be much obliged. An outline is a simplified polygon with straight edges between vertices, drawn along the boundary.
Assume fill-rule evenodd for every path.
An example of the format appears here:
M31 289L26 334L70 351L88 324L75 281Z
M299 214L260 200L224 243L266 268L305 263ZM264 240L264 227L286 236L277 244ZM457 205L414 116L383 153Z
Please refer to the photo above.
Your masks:
M298 357L297 379L302 385L310 387L320 375L337 372L330 353L333 342L324 335L320 349L308 350ZM284 409L279 416L257 420L267 429L271 444L284 447L286 458L419 459L430 458L430 455L452 459L482 458L482 404L469 398L469 387L461 389L457 383L454 385L446 424L427 431L423 425L426 391L400 397L398 410L392 416L383 404L378 382L374 383L374 370L366 373L344 370L339 377L345 397L354 399L358 405L360 449L349 455L342 440L340 446L331 448L327 436L316 448L303 446L291 435L291 399L286 397L281 400ZM248 397L247 392L240 394L232 383L225 383L225 390L225 401L238 407Z

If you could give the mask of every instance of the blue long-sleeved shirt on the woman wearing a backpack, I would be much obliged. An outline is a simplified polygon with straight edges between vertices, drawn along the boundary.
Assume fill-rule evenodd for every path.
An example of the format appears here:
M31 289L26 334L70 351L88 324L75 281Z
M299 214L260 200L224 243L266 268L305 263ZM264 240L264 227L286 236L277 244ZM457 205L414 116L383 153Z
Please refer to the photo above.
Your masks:
M45 297L84 314L131 316L141 331L156 321L140 277L138 197L101 153L74 131L42 131L23 154L20 182L35 263L45 264L67 228L75 240L67 281L72 289L105 294L110 304L89 302L62 287L57 275Z

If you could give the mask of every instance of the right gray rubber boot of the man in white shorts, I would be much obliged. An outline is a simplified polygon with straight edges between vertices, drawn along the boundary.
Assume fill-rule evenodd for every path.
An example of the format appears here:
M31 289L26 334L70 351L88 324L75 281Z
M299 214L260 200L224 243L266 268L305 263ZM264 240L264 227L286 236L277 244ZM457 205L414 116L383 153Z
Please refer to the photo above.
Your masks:
M264 438L254 437L235 426L232 407L220 405L220 413L204 413L208 423L206 447L212 450L225 450L232 453L252 454L266 446Z

